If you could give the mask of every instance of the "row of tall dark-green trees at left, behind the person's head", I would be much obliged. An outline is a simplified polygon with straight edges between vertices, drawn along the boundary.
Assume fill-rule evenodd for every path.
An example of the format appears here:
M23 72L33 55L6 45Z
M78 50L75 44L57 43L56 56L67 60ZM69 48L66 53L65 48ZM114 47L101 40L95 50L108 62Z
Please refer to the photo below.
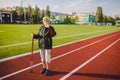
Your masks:
M32 23L40 23L44 16L50 17L50 9L49 6L46 7L46 10L42 10L42 15L40 16L40 9L37 5L33 9L30 5L27 8L16 7L14 11L12 11L13 22L16 21L30 21Z

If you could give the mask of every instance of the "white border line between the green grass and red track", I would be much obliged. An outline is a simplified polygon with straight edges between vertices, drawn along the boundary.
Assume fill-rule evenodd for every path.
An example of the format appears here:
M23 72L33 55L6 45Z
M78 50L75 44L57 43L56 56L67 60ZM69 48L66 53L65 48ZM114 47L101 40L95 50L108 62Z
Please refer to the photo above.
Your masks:
M115 32L117 32L117 31L115 31ZM61 47L61 46L66 46L66 45L69 45L69 44L74 44L74 43L76 43L76 42L80 42L80 41L84 41L84 40L89 40L89 39L92 39L92 38L97 38L97 37L100 37L100 36L103 36L103 35L107 35L107 34L112 34L112 33L115 33L115 32L110 32L110 33L106 33L106 34L102 34L102 35L97 35L97 36L88 37L88 38L85 38L85 39L81 39L81 40L69 42L69 43L66 43L66 44L61 44L61 45L58 45L58 46L54 46L53 48L57 48L57 47ZM36 50L36 51L34 51L34 54L36 54L36 53L38 53L38 52L39 52L39 50ZM30 55L30 54L31 54L31 52L28 52L28 53L24 53L24 54L12 56L12 57L9 57L9 58L1 59L1 60L0 60L0 63L1 63L1 62L5 62L5 61L8 61L8 60L12 60L12 59L24 57L24 56L27 56L27 55Z

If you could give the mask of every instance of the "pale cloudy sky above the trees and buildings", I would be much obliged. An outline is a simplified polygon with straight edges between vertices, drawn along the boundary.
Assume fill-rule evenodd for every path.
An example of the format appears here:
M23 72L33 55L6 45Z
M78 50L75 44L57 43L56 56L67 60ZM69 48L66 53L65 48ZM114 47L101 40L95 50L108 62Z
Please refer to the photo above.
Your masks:
M30 4L33 8L37 5L40 9L45 9L49 5L53 12L68 14L96 12L97 7L101 6L103 14L120 16L120 0L0 0L0 8L20 6L21 1L25 7Z

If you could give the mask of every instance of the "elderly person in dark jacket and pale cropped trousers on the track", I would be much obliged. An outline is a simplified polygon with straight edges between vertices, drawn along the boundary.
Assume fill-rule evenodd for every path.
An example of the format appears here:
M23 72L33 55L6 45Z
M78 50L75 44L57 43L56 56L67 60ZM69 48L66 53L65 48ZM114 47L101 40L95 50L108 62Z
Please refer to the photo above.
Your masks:
M38 39L38 45L40 48L40 56L43 68L40 71L41 74L46 76L50 75L50 58L52 49L52 37L56 35L56 32L52 26L49 25L50 19L48 17L43 18L43 26L40 27L38 34L33 34L35 39Z

